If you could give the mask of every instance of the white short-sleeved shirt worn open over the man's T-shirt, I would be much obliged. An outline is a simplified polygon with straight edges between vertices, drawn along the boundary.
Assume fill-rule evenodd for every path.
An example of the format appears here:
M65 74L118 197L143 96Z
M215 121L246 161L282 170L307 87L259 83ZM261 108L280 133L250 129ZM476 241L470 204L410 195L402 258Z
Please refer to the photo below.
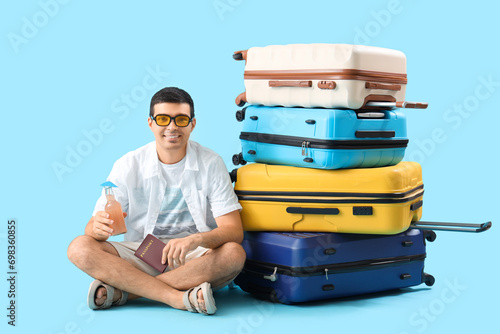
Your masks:
M168 187L160 170L156 142L125 154L113 165L108 181L113 182L115 199L127 213L126 241L142 241L152 233ZM181 191L199 232L217 227L215 218L241 210L229 173L222 158L214 151L189 141ZM97 200L93 216L104 211L104 192Z

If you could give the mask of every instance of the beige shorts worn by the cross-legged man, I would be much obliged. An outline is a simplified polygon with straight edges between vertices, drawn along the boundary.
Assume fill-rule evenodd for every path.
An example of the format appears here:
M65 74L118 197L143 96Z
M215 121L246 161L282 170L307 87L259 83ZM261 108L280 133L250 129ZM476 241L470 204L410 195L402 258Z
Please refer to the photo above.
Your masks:
M168 243L168 241L170 239L160 239L160 240L163 241L164 243ZM108 243L110 243L116 249L116 251L118 252L118 255L122 259L126 260L127 262L132 264L137 269L139 269L139 270L141 270L141 271L143 271L146 274L149 274L151 276L157 276L157 275L161 274L158 270L151 267L149 264L140 260L137 256L134 255L137 248L139 248L139 246L141 245L140 242L108 241ZM196 248L195 250L188 252L186 255L186 263L193 260L193 259L196 259L196 258L199 258L199 257L205 255L209 250L210 250L210 248L205 248L205 247L200 246L200 247ZM174 263L174 268L177 268L177 267L178 267L178 264ZM172 270L172 268L169 266L169 267L167 267L167 269L165 269L164 272L168 272L170 270ZM212 287L212 290L215 291L215 290L222 289L223 287L229 285L229 283L231 283L233 279L234 279L234 277L232 279L230 279L229 281L224 282L223 284L221 284L219 286Z

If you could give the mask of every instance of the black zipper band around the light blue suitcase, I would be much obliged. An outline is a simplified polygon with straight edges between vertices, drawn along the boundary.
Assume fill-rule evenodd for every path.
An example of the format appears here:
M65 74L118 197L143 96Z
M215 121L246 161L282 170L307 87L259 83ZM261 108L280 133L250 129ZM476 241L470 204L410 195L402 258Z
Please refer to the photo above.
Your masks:
M257 132L242 132L240 134L240 139L258 143L265 143L265 144L301 147L302 155L306 155L308 148L363 150L363 149L377 149L377 148L404 148L408 146L408 139L331 140L331 139L311 139L304 137L274 135L274 134L257 133Z

